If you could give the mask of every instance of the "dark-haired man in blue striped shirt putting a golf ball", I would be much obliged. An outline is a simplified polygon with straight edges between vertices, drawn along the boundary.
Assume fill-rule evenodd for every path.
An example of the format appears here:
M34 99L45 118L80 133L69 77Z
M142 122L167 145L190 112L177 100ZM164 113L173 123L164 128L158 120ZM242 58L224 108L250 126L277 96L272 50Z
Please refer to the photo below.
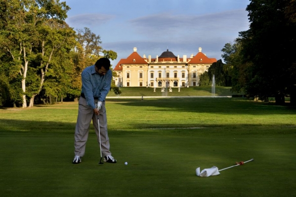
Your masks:
M104 157L104 162L116 163L116 160L111 156L110 152L105 108L105 98L110 90L112 79L110 60L108 58L99 59L95 65L87 67L82 71L81 79L82 88L78 102L78 116L74 134L75 157L72 163L79 164L81 162L81 157L84 156L92 120L98 142L100 143L98 116L102 157Z

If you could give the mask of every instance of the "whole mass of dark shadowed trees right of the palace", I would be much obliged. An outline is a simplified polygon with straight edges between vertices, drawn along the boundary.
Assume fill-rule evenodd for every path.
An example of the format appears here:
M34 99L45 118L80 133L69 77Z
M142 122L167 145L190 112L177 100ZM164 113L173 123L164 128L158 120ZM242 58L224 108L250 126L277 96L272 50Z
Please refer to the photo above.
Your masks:
M234 43L225 44L223 59L232 89L283 104L296 84L296 1L251 0L247 6L250 26Z

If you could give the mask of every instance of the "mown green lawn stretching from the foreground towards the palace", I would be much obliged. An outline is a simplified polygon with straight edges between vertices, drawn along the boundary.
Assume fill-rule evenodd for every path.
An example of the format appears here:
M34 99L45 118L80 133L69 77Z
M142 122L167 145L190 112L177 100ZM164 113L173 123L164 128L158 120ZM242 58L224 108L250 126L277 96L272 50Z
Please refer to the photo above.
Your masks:
M71 163L77 103L1 109L0 196L296 195L295 108L244 98L112 98L106 108L117 164L98 164L92 126L82 163Z

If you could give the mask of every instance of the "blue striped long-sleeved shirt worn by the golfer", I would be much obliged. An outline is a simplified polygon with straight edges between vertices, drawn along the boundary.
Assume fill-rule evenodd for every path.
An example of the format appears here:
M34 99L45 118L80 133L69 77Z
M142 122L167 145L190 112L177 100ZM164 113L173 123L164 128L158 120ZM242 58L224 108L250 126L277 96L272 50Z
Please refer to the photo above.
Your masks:
M99 101L105 101L105 98L111 87L112 71L108 70L105 75L100 76L95 69L95 65L87 67L81 73L82 89L87 104L96 108L94 97L98 97Z

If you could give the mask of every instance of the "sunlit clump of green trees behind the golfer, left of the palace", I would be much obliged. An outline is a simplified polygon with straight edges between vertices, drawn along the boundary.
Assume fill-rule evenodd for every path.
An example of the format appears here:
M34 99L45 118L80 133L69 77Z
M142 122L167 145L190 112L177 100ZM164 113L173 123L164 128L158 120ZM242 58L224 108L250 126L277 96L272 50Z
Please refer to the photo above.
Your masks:
M117 58L89 28L69 27L69 10L59 0L0 2L0 105L32 107L36 96L43 102L77 97L84 68L104 56Z

